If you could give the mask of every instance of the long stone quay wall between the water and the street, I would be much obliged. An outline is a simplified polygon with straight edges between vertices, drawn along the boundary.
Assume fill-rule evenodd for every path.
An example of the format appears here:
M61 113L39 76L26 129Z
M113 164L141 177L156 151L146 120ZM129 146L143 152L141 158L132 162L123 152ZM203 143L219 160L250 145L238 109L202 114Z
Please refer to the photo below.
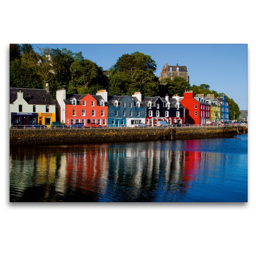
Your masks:
M238 131L244 133L243 127ZM246 130L247 132L247 130ZM238 134L231 127L204 128L111 128L111 129L10 129L10 146L68 144L111 141L143 141L229 137Z

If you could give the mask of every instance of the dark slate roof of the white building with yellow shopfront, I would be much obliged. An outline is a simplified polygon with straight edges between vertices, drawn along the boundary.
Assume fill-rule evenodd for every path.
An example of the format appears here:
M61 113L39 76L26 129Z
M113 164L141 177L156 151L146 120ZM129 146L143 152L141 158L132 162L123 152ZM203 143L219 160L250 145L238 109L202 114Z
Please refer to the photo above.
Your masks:
M17 100L17 92L23 92L23 99L33 105L55 105L49 92L42 89L10 88L10 104ZM45 100L44 100L45 99Z

